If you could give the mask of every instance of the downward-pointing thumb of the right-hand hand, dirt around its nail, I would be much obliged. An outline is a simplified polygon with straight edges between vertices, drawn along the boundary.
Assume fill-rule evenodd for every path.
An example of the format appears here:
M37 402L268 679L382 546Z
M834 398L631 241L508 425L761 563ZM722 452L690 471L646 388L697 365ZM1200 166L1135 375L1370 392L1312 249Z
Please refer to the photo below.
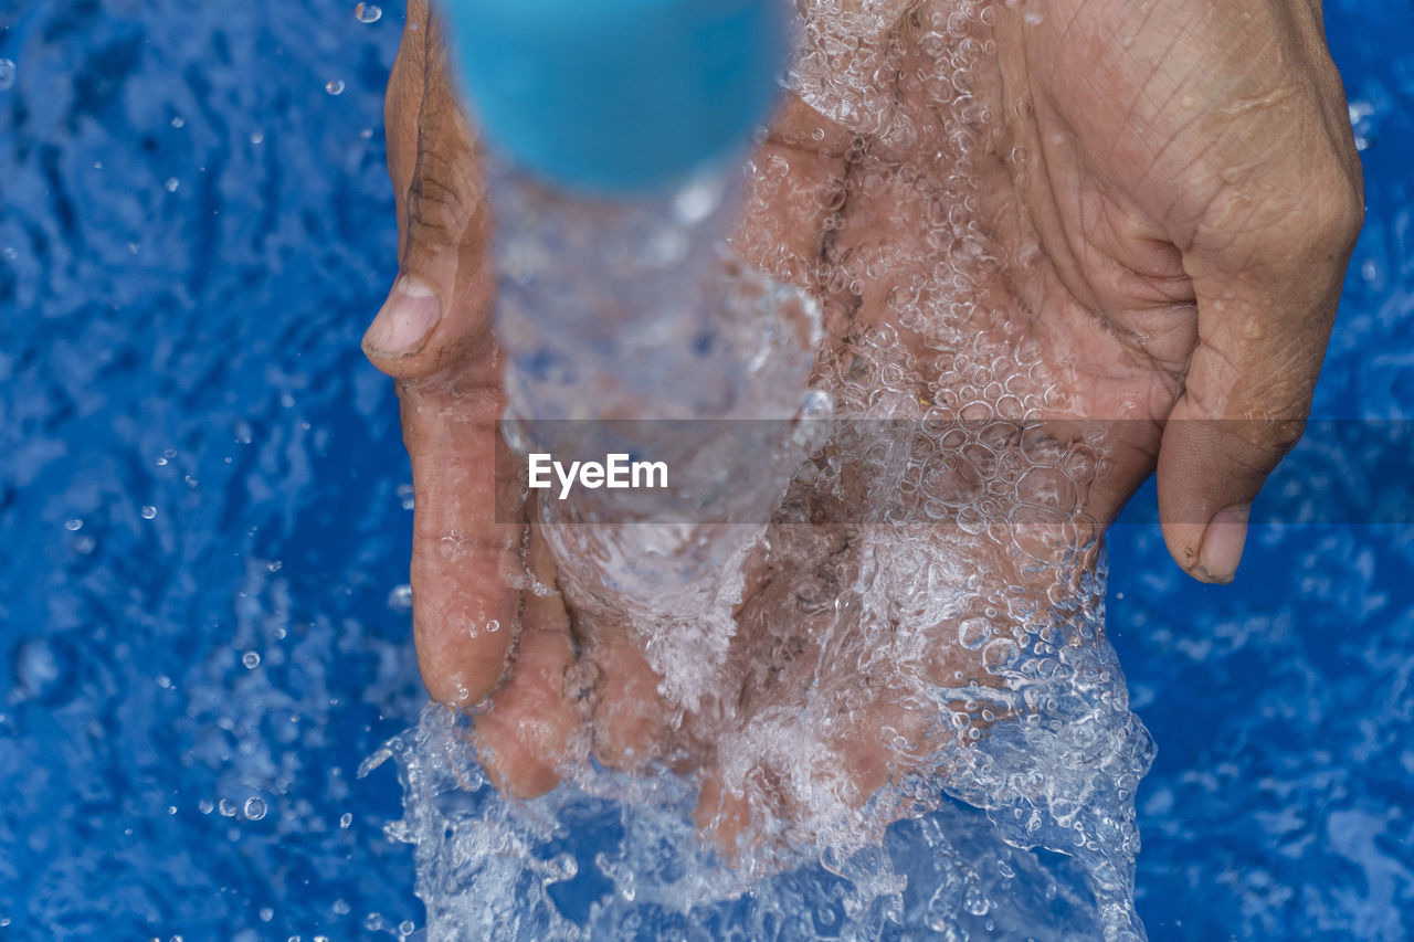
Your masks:
M1202 581L1232 581L1251 501L1301 437L1363 215L1357 164L1287 180L1299 202L1237 192L1185 255L1199 338L1158 502L1169 553Z

